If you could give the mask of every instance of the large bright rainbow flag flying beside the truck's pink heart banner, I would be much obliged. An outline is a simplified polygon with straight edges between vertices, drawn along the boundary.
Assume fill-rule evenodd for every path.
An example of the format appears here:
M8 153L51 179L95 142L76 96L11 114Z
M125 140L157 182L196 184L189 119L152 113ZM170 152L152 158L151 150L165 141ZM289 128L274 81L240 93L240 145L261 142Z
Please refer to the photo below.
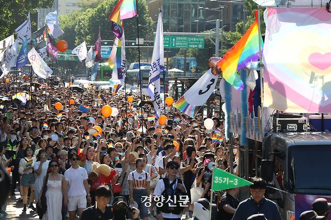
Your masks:
M259 60L259 38L263 47L263 40L259 35L258 16L255 13L255 22L250 29L235 43L229 51L217 62L222 70L224 79L237 90L243 89L243 82L236 73Z

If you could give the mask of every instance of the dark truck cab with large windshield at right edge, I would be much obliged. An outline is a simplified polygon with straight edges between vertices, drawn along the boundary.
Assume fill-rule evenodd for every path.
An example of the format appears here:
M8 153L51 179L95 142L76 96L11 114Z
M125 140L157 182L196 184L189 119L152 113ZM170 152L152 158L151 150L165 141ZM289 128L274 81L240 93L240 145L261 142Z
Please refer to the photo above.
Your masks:
M266 137L260 174L270 186L266 197L277 203L283 219L299 219L298 208L302 207L298 196L331 195L330 155L329 132L272 133Z

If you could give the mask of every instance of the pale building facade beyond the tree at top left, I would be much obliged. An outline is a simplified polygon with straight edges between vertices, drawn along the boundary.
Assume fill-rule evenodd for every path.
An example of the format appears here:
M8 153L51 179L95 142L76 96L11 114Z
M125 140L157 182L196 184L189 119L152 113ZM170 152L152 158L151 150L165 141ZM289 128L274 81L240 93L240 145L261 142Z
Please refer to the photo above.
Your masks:
M78 3L80 0L54 0L53 6L48 9L38 10L38 29L45 25L45 17L48 13L57 11L57 15L66 15L73 11L79 10Z

